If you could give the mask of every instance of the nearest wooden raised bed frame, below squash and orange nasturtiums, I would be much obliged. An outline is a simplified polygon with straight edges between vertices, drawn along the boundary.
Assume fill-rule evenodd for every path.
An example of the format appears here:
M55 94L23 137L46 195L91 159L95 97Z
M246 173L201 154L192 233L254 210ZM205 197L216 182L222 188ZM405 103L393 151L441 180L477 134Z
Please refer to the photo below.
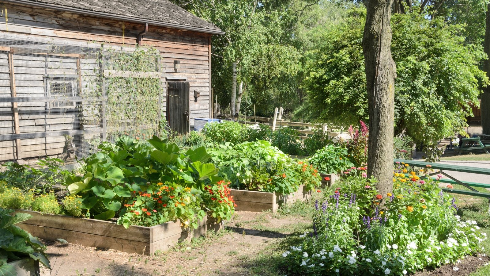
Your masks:
M223 227L223 221L217 223L213 219L204 218L194 230L181 228L179 220L151 227L132 225L126 229L112 221L49 215L27 210L16 212L32 215L32 218L18 225L41 239L64 239L69 243L86 247L116 249L144 255L153 255L155 251L166 250L179 241L190 240L208 230L218 231Z

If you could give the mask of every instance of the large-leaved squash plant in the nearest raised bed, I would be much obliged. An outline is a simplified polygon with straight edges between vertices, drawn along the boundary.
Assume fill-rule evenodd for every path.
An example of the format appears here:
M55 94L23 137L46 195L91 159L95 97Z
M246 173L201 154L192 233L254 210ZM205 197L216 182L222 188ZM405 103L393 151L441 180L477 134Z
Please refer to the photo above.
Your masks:
M153 192L156 183L198 187L192 193L199 198L204 181L221 180L216 166L205 163L210 156L204 147L183 153L176 144L153 136L147 141L122 137L115 143L100 144L99 149L84 160L83 176L65 179L70 193L82 196L82 207L95 219L120 215L133 195Z

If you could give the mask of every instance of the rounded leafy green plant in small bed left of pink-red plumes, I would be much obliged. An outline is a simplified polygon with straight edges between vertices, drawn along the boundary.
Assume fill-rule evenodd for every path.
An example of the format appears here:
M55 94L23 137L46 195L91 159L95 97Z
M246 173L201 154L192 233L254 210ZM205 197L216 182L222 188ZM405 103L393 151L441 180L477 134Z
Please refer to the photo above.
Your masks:
M320 173L327 174L346 171L354 166L348 157L347 149L338 145L328 145L317 150L308 161L318 168Z

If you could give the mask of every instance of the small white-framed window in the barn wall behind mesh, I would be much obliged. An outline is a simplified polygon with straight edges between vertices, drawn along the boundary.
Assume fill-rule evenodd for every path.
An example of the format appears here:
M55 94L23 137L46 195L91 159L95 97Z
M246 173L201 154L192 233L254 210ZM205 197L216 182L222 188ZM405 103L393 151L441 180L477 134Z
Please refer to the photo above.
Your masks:
M47 78L46 90L48 97L54 97L49 101L49 109L73 109L76 104L68 98L76 96L76 82L73 78Z

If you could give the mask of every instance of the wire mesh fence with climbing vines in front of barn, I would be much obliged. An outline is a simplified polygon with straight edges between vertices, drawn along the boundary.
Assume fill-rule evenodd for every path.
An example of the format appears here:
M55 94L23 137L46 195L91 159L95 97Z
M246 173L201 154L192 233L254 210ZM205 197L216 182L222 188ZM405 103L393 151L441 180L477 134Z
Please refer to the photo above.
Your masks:
M0 34L0 162L66 161L123 135L148 138L162 118L152 48Z

